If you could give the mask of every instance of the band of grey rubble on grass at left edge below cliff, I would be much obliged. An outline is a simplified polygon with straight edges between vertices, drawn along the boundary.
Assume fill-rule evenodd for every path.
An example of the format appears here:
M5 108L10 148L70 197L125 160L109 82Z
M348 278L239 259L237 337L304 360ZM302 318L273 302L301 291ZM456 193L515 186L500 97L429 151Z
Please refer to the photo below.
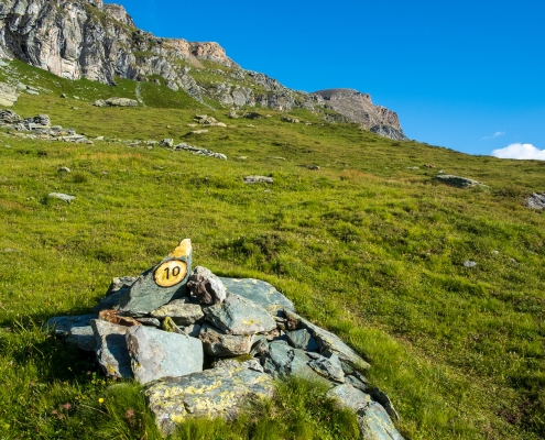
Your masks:
M17 133L18 135L26 139L92 144L92 141L83 134L77 134L73 129L52 125L47 114L37 114L23 119L12 110L0 110L0 127L15 130L19 132Z

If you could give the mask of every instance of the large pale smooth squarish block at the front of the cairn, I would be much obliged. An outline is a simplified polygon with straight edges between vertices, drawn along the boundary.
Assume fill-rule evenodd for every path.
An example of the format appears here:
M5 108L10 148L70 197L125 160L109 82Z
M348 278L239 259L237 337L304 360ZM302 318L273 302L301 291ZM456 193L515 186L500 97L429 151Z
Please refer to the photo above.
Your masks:
M127 332L127 346L141 384L203 371L203 344L196 338L135 326Z

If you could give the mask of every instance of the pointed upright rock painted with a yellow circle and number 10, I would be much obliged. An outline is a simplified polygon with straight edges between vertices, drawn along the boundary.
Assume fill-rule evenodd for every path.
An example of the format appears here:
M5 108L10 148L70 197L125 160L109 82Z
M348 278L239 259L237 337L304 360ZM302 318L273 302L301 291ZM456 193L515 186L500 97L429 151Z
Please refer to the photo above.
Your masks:
M121 298L120 310L144 316L173 299L186 296L192 271L192 242L186 239L160 264L144 272Z

